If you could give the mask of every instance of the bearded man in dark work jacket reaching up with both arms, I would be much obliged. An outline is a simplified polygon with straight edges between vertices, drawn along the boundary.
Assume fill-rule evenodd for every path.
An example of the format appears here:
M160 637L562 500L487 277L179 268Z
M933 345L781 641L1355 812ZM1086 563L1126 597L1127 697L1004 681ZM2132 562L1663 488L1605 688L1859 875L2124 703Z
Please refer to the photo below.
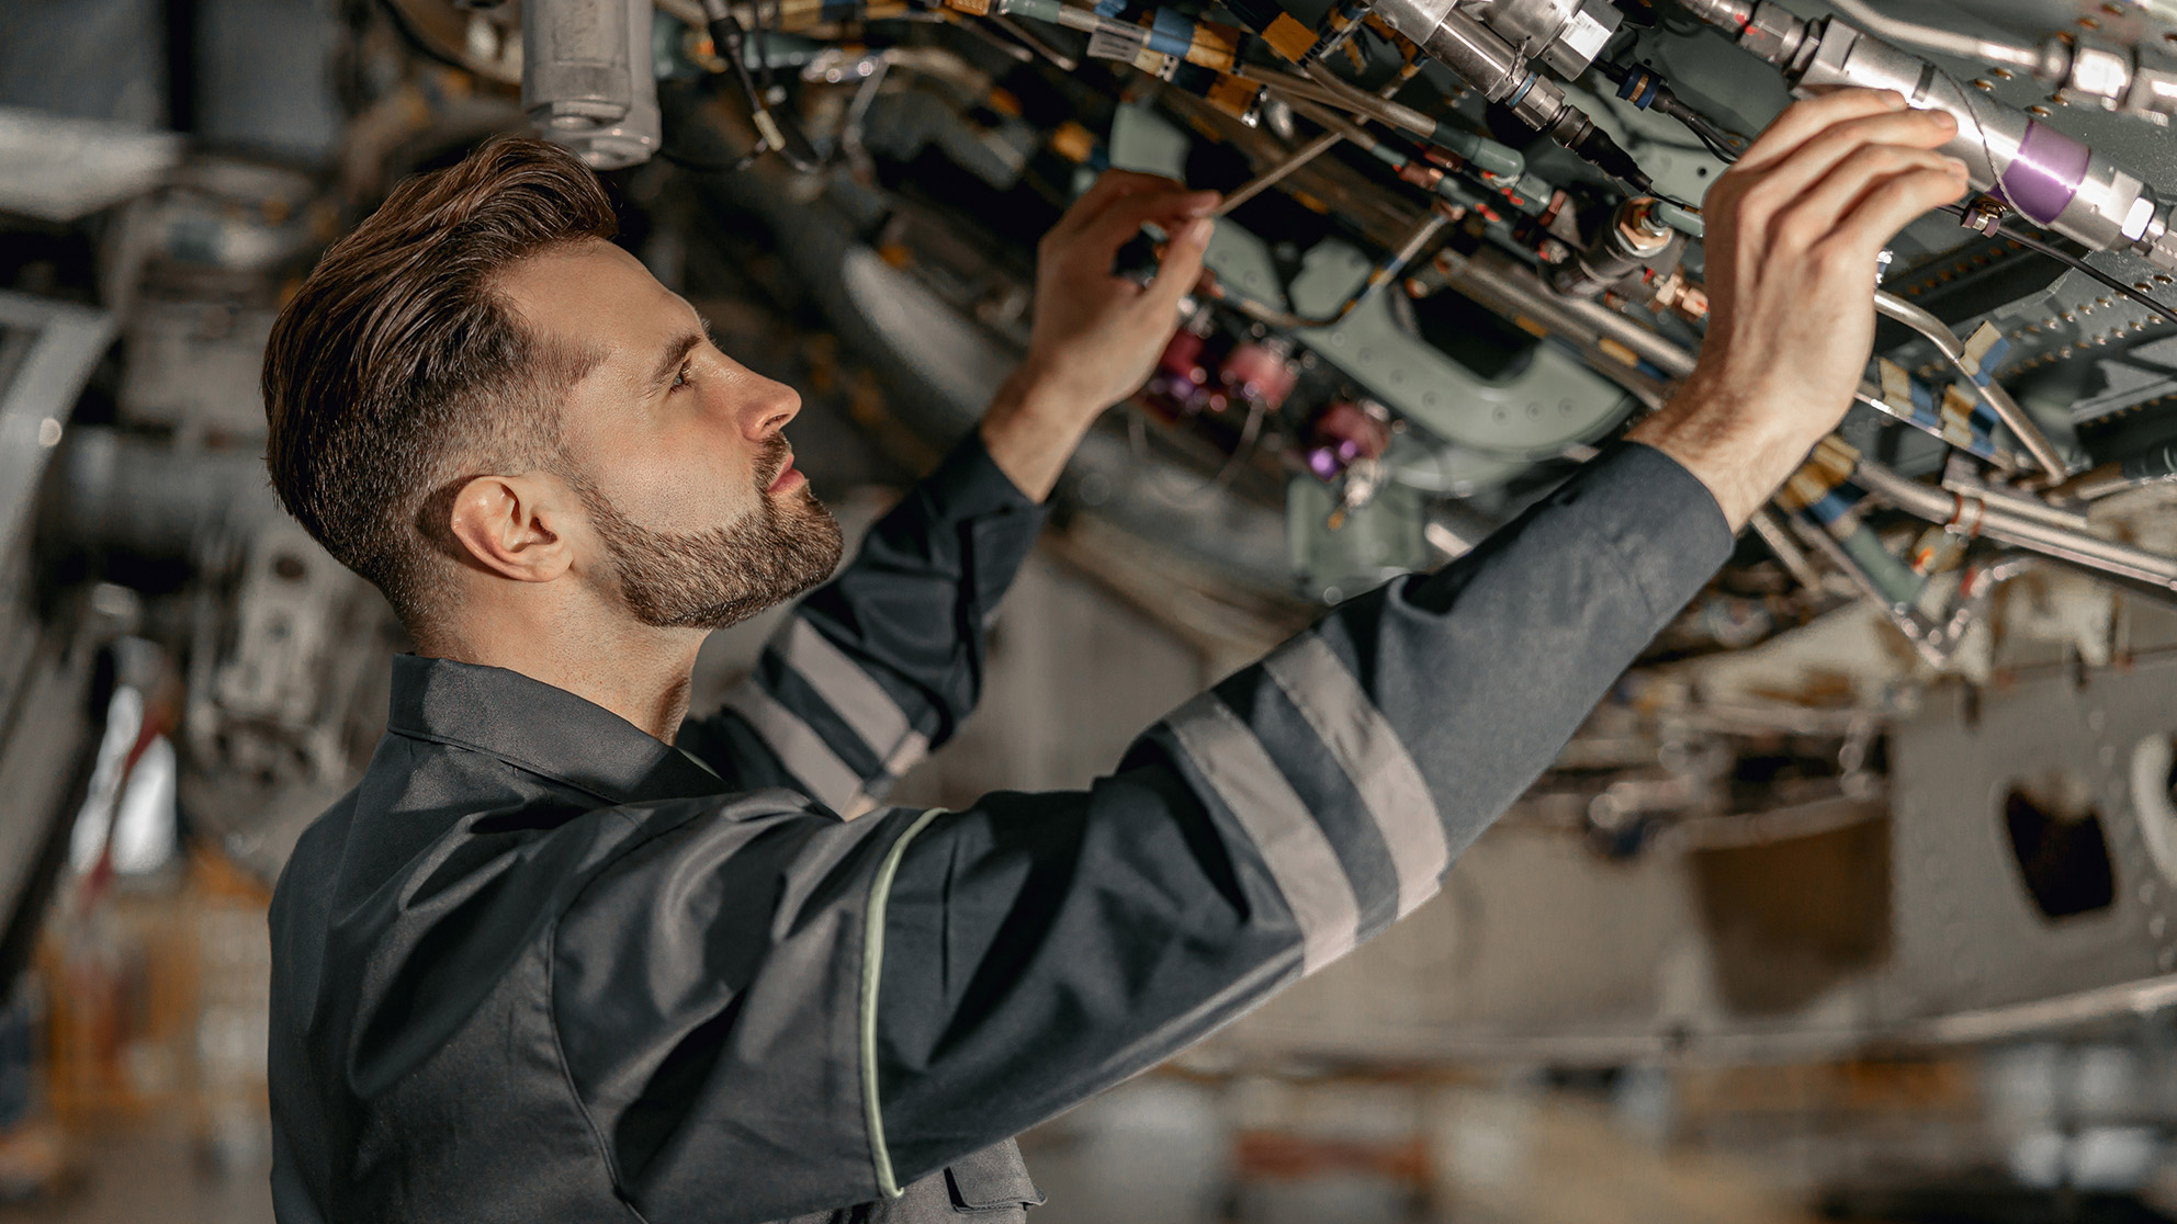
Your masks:
M821 582L792 390L496 142L327 253L266 355L287 507L385 590L388 734L272 902L272 1189L318 1220L1017 1217L1010 1137L1413 910L1850 401L1948 118L1803 102L1709 194L1672 403L1469 555L1330 612L1084 793L882 806L975 701L1067 453L1215 196L1104 176L982 427L725 710L703 634ZM1145 222L1147 287L1110 277ZM677 745L677 747L675 747Z

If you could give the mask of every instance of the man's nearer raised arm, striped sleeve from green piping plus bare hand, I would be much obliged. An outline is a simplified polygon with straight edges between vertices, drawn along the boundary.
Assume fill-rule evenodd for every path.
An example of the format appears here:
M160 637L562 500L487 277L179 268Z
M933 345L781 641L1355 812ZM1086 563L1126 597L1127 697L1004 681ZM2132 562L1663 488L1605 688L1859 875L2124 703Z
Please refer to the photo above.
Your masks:
M1189 701L1082 795L932 812L877 876L880 1178L1178 1052L1424 902L1837 425L1877 253L1964 194L1946 115L1803 102L1709 194L1700 366L1552 497Z

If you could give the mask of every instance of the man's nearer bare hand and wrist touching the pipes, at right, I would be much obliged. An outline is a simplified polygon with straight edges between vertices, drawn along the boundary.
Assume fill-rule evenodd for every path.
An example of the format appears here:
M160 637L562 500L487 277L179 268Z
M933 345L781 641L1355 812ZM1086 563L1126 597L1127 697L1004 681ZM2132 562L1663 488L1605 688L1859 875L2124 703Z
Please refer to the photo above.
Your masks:
M1628 438L1700 477L1733 531L1850 407L1874 346L1877 255L1966 194L1966 166L1935 152L1953 135L1942 111L1844 89L1785 109L1709 187L1700 362Z

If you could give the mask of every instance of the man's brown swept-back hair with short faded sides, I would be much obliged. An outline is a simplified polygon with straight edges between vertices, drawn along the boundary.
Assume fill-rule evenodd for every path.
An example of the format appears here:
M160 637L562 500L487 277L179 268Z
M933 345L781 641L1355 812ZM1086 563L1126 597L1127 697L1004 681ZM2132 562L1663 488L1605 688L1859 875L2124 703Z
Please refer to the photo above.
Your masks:
M612 200L575 155L494 137L396 187L272 325L272 488L411 634L438 610L453 564L431 512L470 475L551 455L557 399L586 368L529 335L499 277L614 231Z

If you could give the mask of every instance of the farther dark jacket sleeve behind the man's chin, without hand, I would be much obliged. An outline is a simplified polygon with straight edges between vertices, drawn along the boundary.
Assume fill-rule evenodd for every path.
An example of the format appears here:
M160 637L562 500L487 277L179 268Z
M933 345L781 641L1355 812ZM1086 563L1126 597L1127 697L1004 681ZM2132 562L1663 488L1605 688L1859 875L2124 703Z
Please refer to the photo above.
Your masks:
M736 788L875 808L975 708L984 632L1043 521L969 431L679 745Z

